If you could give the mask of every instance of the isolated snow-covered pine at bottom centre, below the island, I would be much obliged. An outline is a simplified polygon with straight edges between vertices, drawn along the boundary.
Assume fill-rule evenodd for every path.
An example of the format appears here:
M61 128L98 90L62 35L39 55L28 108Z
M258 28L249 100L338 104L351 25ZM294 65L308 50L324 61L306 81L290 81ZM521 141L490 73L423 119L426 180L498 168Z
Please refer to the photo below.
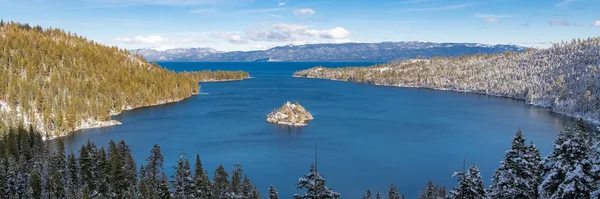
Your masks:
M340 194L325 186L325 178L316 171L315 165L310 165L310 172L298 179L298 189L306 189L303 195L295 194L296 199L325 199L339 198Z

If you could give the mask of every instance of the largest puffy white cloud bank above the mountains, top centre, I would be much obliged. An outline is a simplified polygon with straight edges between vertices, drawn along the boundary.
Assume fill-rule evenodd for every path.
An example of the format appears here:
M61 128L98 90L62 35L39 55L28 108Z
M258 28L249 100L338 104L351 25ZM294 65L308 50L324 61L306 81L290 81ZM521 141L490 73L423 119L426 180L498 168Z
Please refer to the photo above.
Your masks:
M351 32L342 27L332 29L310 29L299 24L270 24L246 30L246 36L252 41L295 42L303 40L340 40L346 39Z

